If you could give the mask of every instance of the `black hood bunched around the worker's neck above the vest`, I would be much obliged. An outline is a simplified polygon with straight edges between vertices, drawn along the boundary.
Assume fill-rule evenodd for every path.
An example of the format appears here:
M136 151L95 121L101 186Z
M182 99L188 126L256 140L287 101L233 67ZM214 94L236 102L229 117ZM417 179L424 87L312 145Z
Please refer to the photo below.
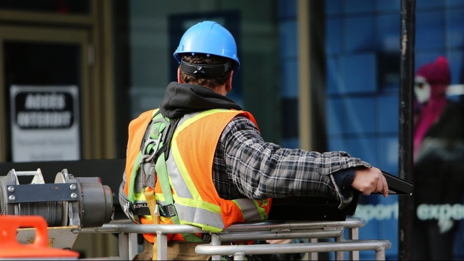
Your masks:
M161 114L170 119L210 109L242 110L242 107L235 101L204 86L175 81L168 84L159 107Z

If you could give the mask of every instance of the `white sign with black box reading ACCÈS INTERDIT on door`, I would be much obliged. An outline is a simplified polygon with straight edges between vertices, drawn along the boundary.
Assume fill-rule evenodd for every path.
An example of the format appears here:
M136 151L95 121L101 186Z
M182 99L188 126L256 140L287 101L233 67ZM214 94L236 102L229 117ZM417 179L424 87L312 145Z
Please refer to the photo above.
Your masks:
M77 86L10 88L13 161L80 160Z

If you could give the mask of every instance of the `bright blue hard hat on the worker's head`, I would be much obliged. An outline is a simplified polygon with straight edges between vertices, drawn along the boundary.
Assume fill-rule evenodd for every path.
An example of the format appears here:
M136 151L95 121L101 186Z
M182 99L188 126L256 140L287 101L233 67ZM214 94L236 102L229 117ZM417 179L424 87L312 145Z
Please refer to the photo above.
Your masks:
M185 31L174 52L174 58L179 64L183 53L212 54L232 59L236 61L233 67L234 74L240 68L234 37L221 24L214 21L199 22Z

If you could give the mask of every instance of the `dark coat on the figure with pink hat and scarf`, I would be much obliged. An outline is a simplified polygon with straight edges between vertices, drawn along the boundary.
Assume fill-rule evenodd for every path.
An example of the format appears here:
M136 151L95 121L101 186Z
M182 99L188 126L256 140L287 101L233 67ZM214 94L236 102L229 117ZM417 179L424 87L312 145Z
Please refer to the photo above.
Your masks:
M427 131L414 166L414 199L419 204L463 202L464 105L449 102Z

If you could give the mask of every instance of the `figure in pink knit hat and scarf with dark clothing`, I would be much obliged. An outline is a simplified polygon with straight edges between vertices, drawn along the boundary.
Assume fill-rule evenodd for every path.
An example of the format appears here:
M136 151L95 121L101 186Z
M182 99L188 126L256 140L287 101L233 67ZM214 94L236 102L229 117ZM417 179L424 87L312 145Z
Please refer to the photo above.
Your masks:
M416 73L414 94L414 260L453 260L463 209L464 108L447 99L448 60Z

